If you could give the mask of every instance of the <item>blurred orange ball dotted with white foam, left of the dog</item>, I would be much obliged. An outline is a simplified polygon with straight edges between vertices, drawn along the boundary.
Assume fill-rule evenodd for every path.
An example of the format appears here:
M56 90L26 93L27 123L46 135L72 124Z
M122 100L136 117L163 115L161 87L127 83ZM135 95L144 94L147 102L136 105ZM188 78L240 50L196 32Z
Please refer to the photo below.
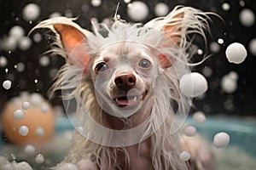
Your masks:
M29 98L16 98L15 102L11 100L3 110L3 133L14 144L44 142L54 134L55 119L49 103L41 98L40 103L31 105L26 102L27 99ZM22 107L24 102L28 105Z

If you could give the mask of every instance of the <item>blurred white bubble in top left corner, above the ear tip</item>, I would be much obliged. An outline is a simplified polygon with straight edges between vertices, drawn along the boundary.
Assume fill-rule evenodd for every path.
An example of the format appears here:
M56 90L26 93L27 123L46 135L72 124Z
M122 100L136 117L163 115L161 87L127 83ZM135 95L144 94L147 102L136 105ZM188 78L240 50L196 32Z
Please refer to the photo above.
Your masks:
M28 3L23 8L22 14L26 21L37 20L40 15L40 7L35 3Z

